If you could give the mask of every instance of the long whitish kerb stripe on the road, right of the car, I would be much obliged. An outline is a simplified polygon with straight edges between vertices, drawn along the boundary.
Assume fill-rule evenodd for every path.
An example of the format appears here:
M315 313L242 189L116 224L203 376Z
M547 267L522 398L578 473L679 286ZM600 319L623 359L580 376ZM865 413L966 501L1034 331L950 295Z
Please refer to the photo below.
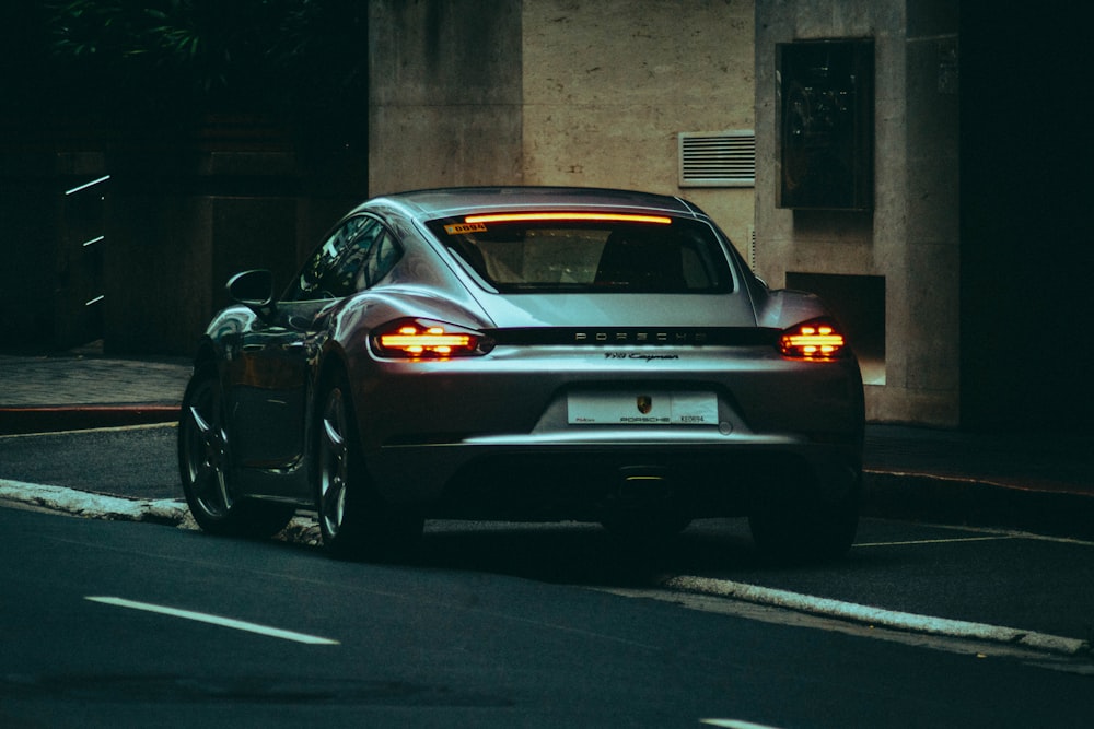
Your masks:
M691 577L680 575L668 577L661 583L662 587L696 592L699 595L713 595L717 597L744 600L757 604L785 608L798 612L814 615L827 615L839 620L862 623L865 625L881 625L899 631L915 631L928 635L944 635L957 638L970 638L974 640L988 640L991 643L1006 643L1037 650L1047 650L1067 656L1074 656L1090 650L1090 645L1085 640L1078 638L1067 638L1046 633L1035 633L1033 631L1020 631L1013 627L1000 625L988 625L985 623L970 623L963 620L952 620L948 618L932 618L930 615L917 615L915 613L898 612L895 610L883 610L882 608L871 608L860 605L854 602L842 602L830 598L818 598L811 595L800 595L787 590L777 590L770 587L759 587L745 583L734 583L728 579L712 579L709 577Z

